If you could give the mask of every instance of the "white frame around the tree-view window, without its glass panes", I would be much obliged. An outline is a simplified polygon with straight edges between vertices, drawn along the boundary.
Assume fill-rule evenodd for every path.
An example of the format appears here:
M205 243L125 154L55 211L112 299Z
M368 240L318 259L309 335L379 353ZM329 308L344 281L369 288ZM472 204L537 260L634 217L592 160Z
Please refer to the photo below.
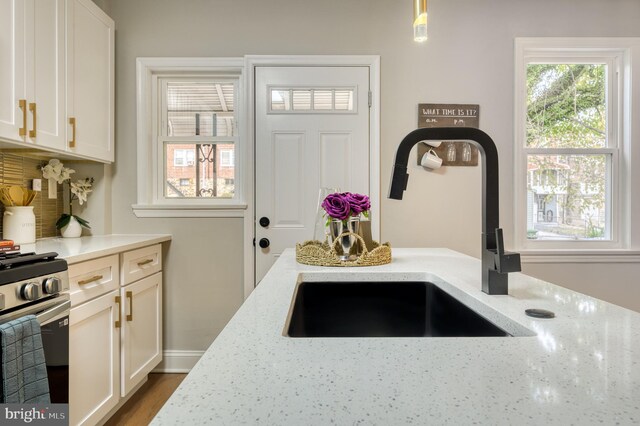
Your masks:
M634 53L634 54L632 54ZM632 115L640 85L640 38L516 38L515 40L515 147L514 147L514 246L528 262L574 262L585 259L613 260L612 255L637 259L640 235L631 234L632 207L638 196L631 192L632 135L640 123ZM533 149L526 147L526 71L530 63L606 63L608 68L607 146L599 149ZM631 83L635 84L632 85ZM636 114L637 115L637 114ZM609 199L610 240L529 240L527 223L527 155L607 154L611 157ZM637 211L637 209L636 209ZM637 219L637 218L636 218ZM636 232L637 234L637 232ZM631 258L630 258L631 259ZM631 260L630 260L631 261Z

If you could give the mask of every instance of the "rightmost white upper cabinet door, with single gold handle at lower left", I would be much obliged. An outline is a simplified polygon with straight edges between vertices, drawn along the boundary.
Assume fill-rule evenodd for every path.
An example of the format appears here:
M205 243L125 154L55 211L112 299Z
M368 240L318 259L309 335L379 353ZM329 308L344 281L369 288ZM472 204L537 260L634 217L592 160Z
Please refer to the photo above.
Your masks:
M91 0L66 0L69 152L114 160L115 24Z

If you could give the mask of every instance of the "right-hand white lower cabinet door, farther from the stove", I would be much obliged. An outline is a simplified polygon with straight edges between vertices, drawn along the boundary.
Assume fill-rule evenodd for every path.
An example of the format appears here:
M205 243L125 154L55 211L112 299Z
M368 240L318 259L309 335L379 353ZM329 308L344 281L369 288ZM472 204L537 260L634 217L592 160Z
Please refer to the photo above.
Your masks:
M122 396L126 396L162 361L162 273L121 290Z

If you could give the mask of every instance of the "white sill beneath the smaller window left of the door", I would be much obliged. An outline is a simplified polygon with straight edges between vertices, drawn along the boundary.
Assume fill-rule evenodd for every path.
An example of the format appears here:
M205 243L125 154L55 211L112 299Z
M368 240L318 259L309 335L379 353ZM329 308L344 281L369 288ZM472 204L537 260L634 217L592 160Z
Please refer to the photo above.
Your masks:
M246 204L225 204L219 206L133 204L136 217L244 217Z

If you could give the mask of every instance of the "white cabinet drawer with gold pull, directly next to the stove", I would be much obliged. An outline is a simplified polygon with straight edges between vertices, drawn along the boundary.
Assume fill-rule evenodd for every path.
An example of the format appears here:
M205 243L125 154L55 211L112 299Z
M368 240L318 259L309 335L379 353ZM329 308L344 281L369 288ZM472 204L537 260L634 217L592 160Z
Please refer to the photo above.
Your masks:
M116 290L119 276L117 254L69 265L71 306Z

